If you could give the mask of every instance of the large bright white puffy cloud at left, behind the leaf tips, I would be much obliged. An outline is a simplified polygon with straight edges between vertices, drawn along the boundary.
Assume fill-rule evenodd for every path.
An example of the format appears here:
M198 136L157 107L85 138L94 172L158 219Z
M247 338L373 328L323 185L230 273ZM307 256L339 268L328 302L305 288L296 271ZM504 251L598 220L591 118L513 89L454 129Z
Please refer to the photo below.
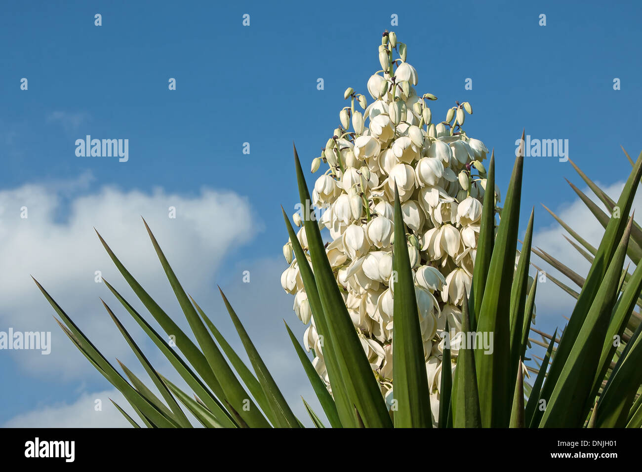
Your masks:
M86 187L89 180L83 175L76 185ZM21 218L23 207L28 218ZM175 219L168 217L169 207L176 208ZM211 189L183 196L162 188L147 194L103 187L65 198L57 182L0 191L0 331L11 327L14 331L51 331L52 336L49 355L39 351L0 351L0 355L12 356L24 371L51 378L82 377L93 370L52 319L54 311L30 274L108 359L130 352L98 297L117 315L127 315L107 287L95 283L95 272L100 270L132 304L134 295L92 226L159 304L182 318L140 215L145 216L179 279L195 293L213 292L221 260L257 232L245 198Z

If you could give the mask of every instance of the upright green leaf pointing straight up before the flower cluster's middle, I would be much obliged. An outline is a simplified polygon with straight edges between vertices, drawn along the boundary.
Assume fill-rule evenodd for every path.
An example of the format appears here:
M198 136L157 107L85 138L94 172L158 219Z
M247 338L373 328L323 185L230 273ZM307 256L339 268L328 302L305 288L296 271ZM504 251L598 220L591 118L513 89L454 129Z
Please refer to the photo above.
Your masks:
M406 224L401 213L401 202L395 184L395 240L392 267L394 283L394 324L392 328L392 371L394 398L397 410L395 428L432 428L428 376L424 360L424 342L421 336L415 281L410 268ZM419 314L419 315L418 315Z

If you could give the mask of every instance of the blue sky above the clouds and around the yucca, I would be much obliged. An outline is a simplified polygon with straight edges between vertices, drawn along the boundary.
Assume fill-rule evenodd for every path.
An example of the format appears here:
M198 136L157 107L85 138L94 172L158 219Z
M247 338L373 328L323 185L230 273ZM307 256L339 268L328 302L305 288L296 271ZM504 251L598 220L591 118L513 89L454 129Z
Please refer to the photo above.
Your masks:
M611 8L593 1L64 5L3 3L0 192L37 186L46 190L43 195L55 195L55 205L47 211L54 213L50 229L56 231L71 225L74 208L82 207L74 206L79 199L116 195L100 193L105 187L128 196L124 205L147 202L158 188L169 200L180 196L186 205L198 205L205 198L204 188L237 195L243 211L221 213L234 237L216 253L211 272L203 272L203 287L213 292L220 283L238 293L239 304L251 312L248 317L261 317L261 310L244 299L242 270L256 268L256 283L261 284L256 293L281 290L285 263L278 258L286 232L280 205L292 213L297 199L291 143L295 141L304 162L319 155L338 126L345 88L367 93L367 79L379 69L377 44L385 29L408 44L408 62L419 74L418 91L438 96L433 116L445 116L455 100L473 105L465 129L495 149L503 191L523 128L538 139L568 139L569 157L594 180L614 188L630 170L620 145L632 157L642 148L636 132L642 128L641 67L634 52L641 42L638 2ZM94 26L95 13L102 15L100 27ZM244 13L250 15L250 26L241 24ZM546 26L539 26L541 13ZM399 26L390 25L392 14L398 15ZM28 79L27 91L20 89L23 77ZM169 78L176 79L177 90L168 90ZM318 78L324 79L322 91L317 90ZM466 78L473 80L472 90L464 89ZM618 91L614 78L621 81ZM74 141L87 134L129 139L128 162L76 157ZM249 155L242 152L246 142ZM577 200L563 177L579 183L568 162L526 159L523 223L535 206L535 227L541 230L544 247L553 237L553 221L539 204L570 211ZM8 216L12 211L0 213L0 225L9 231L15 224L15 217ZM39 217L38 206L32 214ZM250 215L256 218L254 226L247 224ZM157 221L163 231L160 216ZM87 223L83 231L95 239L90 234L93 223ZM109 231L107 223L102 228ZM172 231L180 234L180 229ZM121 238L125 247L125 235L114 238ZM207 246L202 241L206 233L195 232L194 238L189 240L194 248ZM33 238L34 244L38 241ZM98 241L94 243L100 252ZM55 254L56 248L51 251ZM64 272L68 254L58 255L56 268ZM209 264L193 256L194 263ZM31 261L29 270L37 278L44 272L51 281L55 272L44 267L55 263L55 257L45 259L40 258L41 266ZM26 265L11 271L4 278L21 281L25 297L40 296ZM186 264L184 273L189 272ZM42 282L46 285L47 280ZM220 308L211 293L207 297ZM59 302L74 304L69 298ZM263 326L280 333L281 318L297 324L291 302L282 293L273 295L273 316L257 321L257 336ZM34 303L47 315L42 329L56 331L46 302ZM557 312L551 307L538 311L542 326L550 330L564 313L563 307ZM0 306L0 329L13 312L12 306ZM28 319L21 320L28 327ZM36 408L73 403L82 392L108 388L95 372L64 376L56 374L55 367L51 371L30 370L13 354L0 353L0 377L11 386L0 391L0 424ZM303 379L300 372L296 375Z

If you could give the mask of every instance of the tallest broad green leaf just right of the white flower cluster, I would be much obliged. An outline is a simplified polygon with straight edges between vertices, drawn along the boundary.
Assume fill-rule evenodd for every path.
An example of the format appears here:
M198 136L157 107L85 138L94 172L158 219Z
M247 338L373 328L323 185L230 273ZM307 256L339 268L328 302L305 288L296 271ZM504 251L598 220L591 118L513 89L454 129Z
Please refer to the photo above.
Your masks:
M476 331L493 333L494 351L482 354L476 347L475 363L484 427L505 428L510 421L512 398L510 363L510 290L515 271L519 202L524 157L517 156L501 213L499 231L490 259Z

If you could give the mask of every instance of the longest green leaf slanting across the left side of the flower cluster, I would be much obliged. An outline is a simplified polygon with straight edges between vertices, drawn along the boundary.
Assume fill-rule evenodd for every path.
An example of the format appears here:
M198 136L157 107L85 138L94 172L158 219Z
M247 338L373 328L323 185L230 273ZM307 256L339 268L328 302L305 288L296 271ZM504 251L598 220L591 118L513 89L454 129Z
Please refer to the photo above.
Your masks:
M294 157L300 202L302 207L309 208L311 198L296 148ZM388 408L334 278L318 224L308 214L304 225L321 306L327 318L329 339L326 337L324 343L332 346L324 357L336 357L347 398L355 406L363 424L369 428L391 427Z

